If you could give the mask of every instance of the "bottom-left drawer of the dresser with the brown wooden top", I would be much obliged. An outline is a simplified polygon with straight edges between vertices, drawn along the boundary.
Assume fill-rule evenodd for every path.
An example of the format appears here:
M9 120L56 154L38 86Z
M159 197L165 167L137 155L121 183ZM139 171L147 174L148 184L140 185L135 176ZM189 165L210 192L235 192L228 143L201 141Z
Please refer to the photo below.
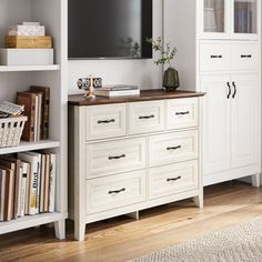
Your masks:
M145 200L145 171L87 180L87 214Z

